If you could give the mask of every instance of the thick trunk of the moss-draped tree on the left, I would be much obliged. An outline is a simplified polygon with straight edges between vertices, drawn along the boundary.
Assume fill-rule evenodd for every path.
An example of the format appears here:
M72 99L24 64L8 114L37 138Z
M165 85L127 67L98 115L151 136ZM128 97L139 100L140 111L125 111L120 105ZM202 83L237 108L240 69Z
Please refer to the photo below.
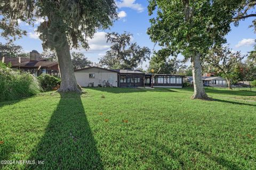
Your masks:
M81 92L78 88L76 77L71 62L71 55L66 35L61 37L63 40L61 45L55 46L60 67L61 86L59 92L75 91Z

